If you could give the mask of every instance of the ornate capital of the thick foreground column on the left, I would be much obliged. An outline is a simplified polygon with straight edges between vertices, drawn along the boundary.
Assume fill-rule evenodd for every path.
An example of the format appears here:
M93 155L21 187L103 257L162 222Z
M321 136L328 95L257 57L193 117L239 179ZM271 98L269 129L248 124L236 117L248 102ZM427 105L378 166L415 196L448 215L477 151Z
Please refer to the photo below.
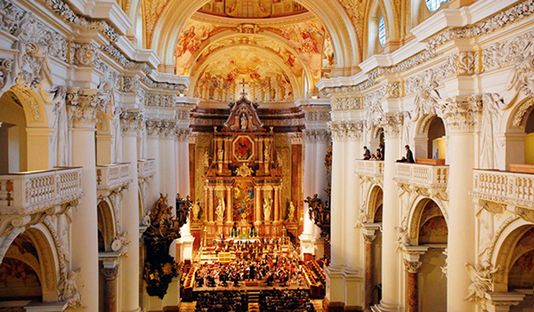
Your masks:
M96 125L96 113L100 107L97 90L69 88L67 91L67 112L72 128L91 128Z

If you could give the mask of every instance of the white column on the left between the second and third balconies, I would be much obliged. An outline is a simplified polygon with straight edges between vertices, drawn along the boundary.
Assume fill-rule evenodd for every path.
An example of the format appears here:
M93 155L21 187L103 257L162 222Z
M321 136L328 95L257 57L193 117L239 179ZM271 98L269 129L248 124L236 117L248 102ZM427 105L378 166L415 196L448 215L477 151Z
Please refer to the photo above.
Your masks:
M121 260L122 311L139 311L139 184L137 182L137 133L142 125L138 111L123 111L123 162L129 163L132 183L125 189L122 200L122 226L128 233L127 253Z

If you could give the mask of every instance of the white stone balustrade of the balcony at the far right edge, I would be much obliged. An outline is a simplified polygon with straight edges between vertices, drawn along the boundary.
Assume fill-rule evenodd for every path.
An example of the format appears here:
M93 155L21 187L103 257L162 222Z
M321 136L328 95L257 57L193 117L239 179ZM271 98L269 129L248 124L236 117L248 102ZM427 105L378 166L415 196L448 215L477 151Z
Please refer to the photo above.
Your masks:
M534 174L473 170L473 196L534 207Z

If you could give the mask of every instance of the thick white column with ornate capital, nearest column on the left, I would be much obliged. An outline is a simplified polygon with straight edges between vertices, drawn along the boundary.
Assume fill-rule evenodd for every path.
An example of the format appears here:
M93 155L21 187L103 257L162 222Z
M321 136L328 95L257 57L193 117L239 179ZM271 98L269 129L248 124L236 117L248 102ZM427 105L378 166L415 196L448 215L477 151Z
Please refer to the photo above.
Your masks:
M98 220L96 201L96 164L94 133L96 112L100 105L96 90L72 88L67 95L67 111L71 121L72 165L82 167L83 200L72 211L72 250L70 267L80 268L77 289L85 308L75 311L98 310Z

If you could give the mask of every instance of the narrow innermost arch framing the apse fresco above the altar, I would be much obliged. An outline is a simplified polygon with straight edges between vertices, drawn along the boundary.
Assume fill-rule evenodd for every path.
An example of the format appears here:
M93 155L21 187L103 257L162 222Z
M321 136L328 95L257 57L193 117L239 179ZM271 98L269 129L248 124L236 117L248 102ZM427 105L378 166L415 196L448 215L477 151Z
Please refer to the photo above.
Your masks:
M255 50L256 52L261 52L263 53L263 55L268 55L268 59L269 60L272 60L275 64L277 64L283 71L284 73L289 77L289 80L291 81L291 85L294 87L293 89L293 92L294 92L294 98L295 99L299 99L301 97L303 97L303 94L304 94L304 89L305 89L305 84L304 85L301 85L298 83L298 81L296 80L296 77L291 73L291 69L287 67L286 64L284 64L278 57L277 54L275 54L274 52L270 52L270 51L267 51L267 50L264 50L264 49L260 49L260 48L257 48L257 47L251 47L250 45L246 45L246 44L235 44L235 45L232 45L232 46L229 46L229 47L225 47L219 51L216 51L212 54L210 54L210 57L207 58L206 60L204 60L204 62L198 66L198 70L196 71L196 75L191 77L191 83L190 83L190 92L194 90L195 88L195 85L197 84L197 80L198 80L198 76L200 75L200 73L202 73L204 71L204 69L206 69L206 67L209 65L209 61L210 59L212 58L216 58L217 56L223 54L224 52L227 52L231 49L234 49L235 47L239 47L239 46L247 46L247 49L248 50Z

